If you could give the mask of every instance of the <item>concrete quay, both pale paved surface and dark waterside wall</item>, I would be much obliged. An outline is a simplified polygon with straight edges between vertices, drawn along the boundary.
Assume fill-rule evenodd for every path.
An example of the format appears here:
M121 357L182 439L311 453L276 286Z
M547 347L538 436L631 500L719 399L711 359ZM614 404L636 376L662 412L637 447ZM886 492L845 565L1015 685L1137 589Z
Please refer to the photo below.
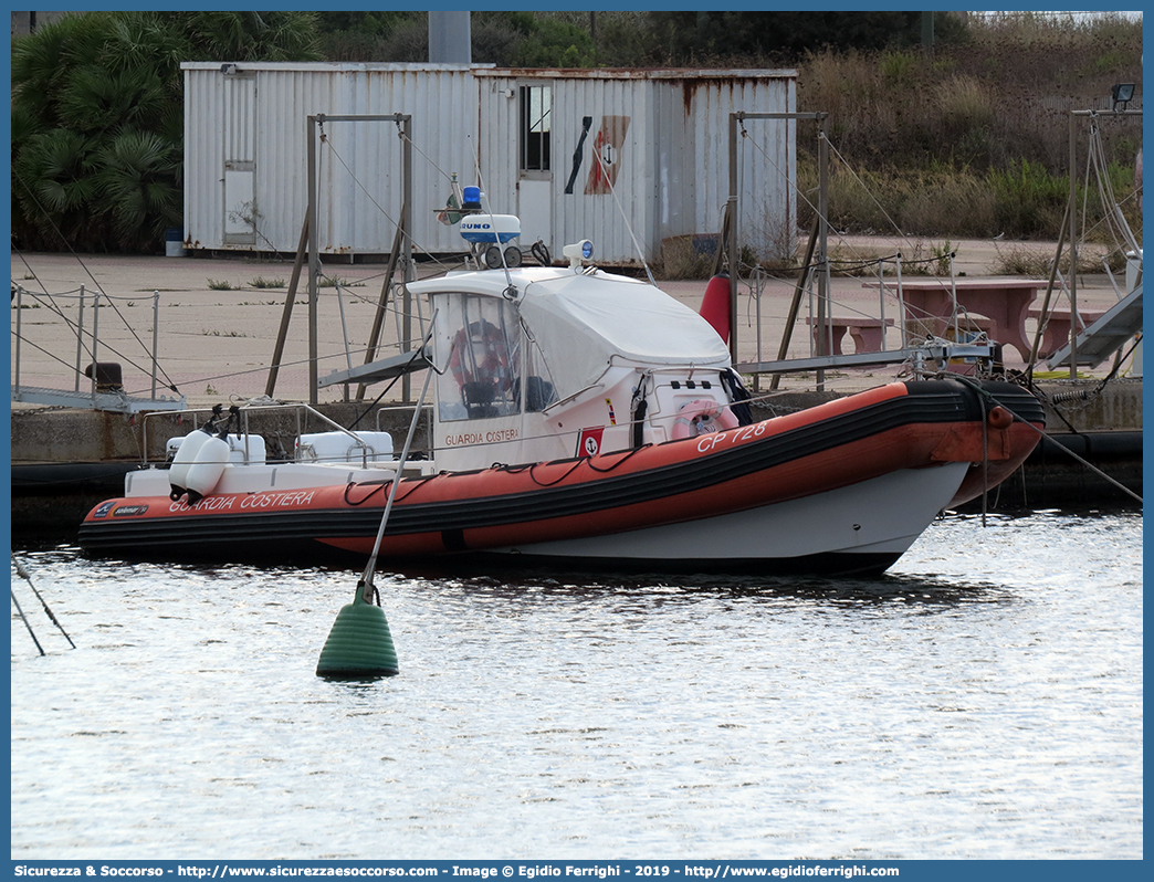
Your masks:
M892 253L887 248L893 244L863 240L860 247L871 254L882 254ZM956 247L956 271L965 272L967 277L991 274L997 244L973 241L959 242ZM1036 244L1033 247L1040 254L1052 255L1056 246ZM91 356L83 359L77 356L75 327L78 323L92 327L91 294L98 284L107 299L100 309L96 360L121 365L128 394L145 397L180 394L186 396L192 409L207 409L218 403L227 408L264 398L269 365L285 308L291 261L110 255L91 255L82 260L83 263L75 256L62 254L13 255L13 282L29 292L23 296L18 316L23 341L18 372L21 386L89 388L87 378L77 379L76 365L80 361L87 366ZM421 264L421 275L441 269L443 267ZM321 289L317 336L321 357L319 374L322 378L349 364L364 361L368 328L384 282L384 267L339 263L329 264L325 272L330 278L339 278L340 286ZM699 306L705 290L705 281L660 284L694 309ZM81 285L85 291L83 311L78 297ZM1078 292L1079 305L1084 309L1104 309L1116 300L1116 292L1104 276L1079 277ZM740 361L773 360L777 357L792 297L792 279L770 279L757 298L748 287L741 290L737 321ZM870 315L877 315L882 308L878 292L867 289L861 278L834 279L832 297L835 302L850 304L849 308ZM399 321L391 304L389 307L379 357L394 354L400 349ZM885 308L893 309L890 315L897 314L896 305L886 305ZM758 314L759 323L756 321ZM158 316L155 330L153 315ZM15 314L13 324L15 328ZM1029 323L1027 331L1033 332ZM155 380L151 361L153 332L157 356ZM886 344L893 347L897 345L897 331L891 330L890 334L893 336L887 337ZM347 354L344 341L349 341ZM809 345L805 326L799 321L788 347L789 357L809 356ZM1025 367L1013 350L1007 347L1005 354L1007 369ZM300 292L292 307L282 367L273 389L275 398L308 401L307 359L307 306L304 292ZM1076 381L1065 379L1067 371L1035 376L1041 376L1040 390L1050 402L1048 432L1059 438L1074 438L1074 443L1082 448L1086 447L1086 438L1089 438L1087 458L1093 462L1095 457L1104 457L1108 471L1116 470L1118 479L1140 492L1142 382L1140 376L1122 376L1102 386L1111 367L1112 364L1107 362L1088 374L1082 371ZM14 381L16 373L14 360ZM777 393L755 391L755 395L762 411L770 414L811 406L887 382L897 375L898 367L894 366L827 371L825 388L820 391L815 389L814 375L789 375L782 376ZM757 387L766 390L769 383L767 378L762 378ZM394 432L395 436L403 436L411 410L400 401L400 386L398 383L384 401L374 404L373 399L382 389L383 386L370 387L366 401L360 404L343 401L344 390L340 387L322 389L320 410L335 421L349 425L373 405L360 427L380 427ZM196 419L179 411L144 418L14 402L14 530L46 525L70 525L74 529L91 504L119 492L125 470L136 468L145 459L163 459L167 439L186 434ZM305 431L324 428L314 421ZM294 421L262 429L270 454L278 448L283 450L285 444L291 446L295 431ZM1086 438L1078 440L1079 435ZM1127 453L1121 454L1118 443L1100 440L1099 451L1110 453L1095 454L1093 439L1106 439L1108 435L1116 442L1129 438L1124 444ZM420 434L417 443L425 443ZM1132 449L1134 444L1137 453ZM285 453L291 453L291 448ZM1050 454L1054 453L1051 449ZM1056 473L1057 457L1061 457L1061 453L1056 456L1050 454L1047 455L1048 474ZM54 468L37 470L33 466ZM1062 471L1061 480L1049 480L1051 489L1061 484L1074 487L1076 499L1101 498L1107 503L1115 495L1119 502L1126 499L1108 485L1097 487L1095 481L1100 479L1085 478L1085 466L1079 465L1066 473L1066 464L1063 463ZM1087 486L1093 487L1088 495ZM1025 495L1027 504L1044 504L1039 500L1036 493ZM1055 503L1063 504L1057 498Z

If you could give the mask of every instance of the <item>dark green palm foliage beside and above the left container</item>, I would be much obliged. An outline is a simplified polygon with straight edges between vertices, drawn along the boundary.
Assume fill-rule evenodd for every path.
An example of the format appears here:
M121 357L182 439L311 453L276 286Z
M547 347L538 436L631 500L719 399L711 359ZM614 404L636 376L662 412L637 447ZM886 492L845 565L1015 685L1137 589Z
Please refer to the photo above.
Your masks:
M320 59L312 13L85 13L13 39L22 247L144 251L181 223L188 60Z

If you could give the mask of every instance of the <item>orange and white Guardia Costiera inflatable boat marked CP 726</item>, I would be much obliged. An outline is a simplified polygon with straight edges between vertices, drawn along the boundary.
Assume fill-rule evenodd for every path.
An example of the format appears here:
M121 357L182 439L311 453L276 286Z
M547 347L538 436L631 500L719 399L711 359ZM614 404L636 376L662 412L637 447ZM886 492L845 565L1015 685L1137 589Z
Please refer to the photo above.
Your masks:
M334 432L269 462L235 424L201 432L180 444L195 451L130 472L123 496L92 509L82 547L364 561L392 491L385 567L877 573L939 511L1010 476L1043 426L1028 391L947 374L755 421L709 321L577 261L409 289L434 316L421 458ZM197 471L196 488L174 471Z

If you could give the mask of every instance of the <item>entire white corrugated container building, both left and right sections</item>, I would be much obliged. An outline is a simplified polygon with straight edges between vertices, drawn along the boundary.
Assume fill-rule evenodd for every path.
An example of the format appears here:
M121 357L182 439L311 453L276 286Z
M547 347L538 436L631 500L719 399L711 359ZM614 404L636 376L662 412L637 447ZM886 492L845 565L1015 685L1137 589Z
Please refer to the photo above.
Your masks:
M439 223L450 179L516 214L523 248L556 259L593 239L637 264L673 237L715 234L729 190L729 113L796 110L794 70L557 70L486 65L186 62L185 240L190 249L292 253L307 205L309 114L412 115L415 247L462 252ZM795 125L747 124L743 244L787 252L796 225ZM389 251L400 211L391 122L329 122L319 148L324 254ZM709 244L709 240L706 240ZM711 247L711 246L710 246Z

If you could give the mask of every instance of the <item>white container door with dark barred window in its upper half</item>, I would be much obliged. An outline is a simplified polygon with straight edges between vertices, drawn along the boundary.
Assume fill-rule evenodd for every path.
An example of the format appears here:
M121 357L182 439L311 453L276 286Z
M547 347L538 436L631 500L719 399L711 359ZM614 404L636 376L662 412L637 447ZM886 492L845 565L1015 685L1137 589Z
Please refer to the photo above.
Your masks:
M520 247L540 239L549 253L553 247L553 87L533 82L517 89L518 172L517 216L520 218Z

